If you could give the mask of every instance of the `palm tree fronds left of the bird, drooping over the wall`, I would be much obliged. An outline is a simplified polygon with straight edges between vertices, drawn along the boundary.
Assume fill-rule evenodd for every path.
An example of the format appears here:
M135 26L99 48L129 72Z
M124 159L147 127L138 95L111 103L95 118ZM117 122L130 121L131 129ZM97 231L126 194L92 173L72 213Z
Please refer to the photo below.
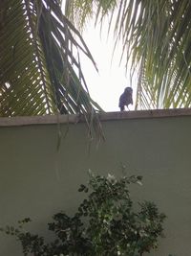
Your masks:
M1 0L0 116L79 113L91 128L101 108L89 95L80 52L96 66L61 1Z

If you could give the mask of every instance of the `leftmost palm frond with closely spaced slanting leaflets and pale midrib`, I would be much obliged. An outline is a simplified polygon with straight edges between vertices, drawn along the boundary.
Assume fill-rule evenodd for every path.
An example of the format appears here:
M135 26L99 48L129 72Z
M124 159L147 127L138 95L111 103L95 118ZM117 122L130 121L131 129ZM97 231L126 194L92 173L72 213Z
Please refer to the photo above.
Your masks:
M27 3L27 2L26 2ZM34 40L29 3L4 1L0 28L0 116L53 113L45 56ZM34 29L34 28L33 28Z

